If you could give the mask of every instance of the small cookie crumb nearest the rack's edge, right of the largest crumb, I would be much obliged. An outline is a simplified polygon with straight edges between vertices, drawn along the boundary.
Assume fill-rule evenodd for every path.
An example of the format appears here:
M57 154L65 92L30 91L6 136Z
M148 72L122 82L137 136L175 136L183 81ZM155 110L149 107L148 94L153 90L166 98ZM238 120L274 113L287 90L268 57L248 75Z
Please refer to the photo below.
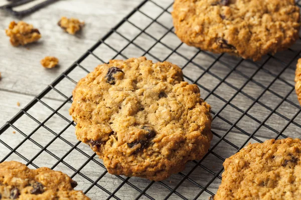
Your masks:
M69 34L75 34L84 24L84 21L80 21L77 18L67 18L65 16L62 16L58 22L58 25Z

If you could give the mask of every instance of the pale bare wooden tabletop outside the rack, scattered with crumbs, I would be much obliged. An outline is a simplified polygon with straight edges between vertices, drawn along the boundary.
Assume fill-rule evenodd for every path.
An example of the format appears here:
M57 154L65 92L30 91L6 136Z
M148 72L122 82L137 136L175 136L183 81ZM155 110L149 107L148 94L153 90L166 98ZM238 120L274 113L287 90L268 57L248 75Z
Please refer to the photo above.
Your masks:
M25 106L140 1L59 0L23 18L0 10L0 124L20 110L18 101L21 107ZM86 25L81 34L73 36L63 32L57 26L61 16L84 20ZM12 46L5 34L10 21L21 19L33 24L42 34L39 42L26 46L29 49ZM58 57L60 66L51 70L42 67L40 60L47 55Z

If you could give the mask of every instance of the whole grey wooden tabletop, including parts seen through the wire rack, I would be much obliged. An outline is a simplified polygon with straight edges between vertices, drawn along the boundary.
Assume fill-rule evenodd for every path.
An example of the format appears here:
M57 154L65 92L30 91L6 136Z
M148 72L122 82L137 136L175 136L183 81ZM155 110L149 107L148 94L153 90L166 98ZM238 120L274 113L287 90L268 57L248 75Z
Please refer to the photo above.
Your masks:
M173 0L153 1L166 7ZM0 126L46 88L140 2L141 0L59 0L22 18L22 20L34 24L42 33L39 42L26 46L29 49L23 46L13 47L10 44L4 29L7 28L11 20L20 19L0 10L0 29L3 30L0 32L0 72L2 72L2 79L0 80ZM170 7L168 11L171 9ZM146 27L152 20L149 21L149 18L147 19L141 13L133 16L130 20L138 27L145 28L144 32L137 38L133 37L140 31L128 23L118 28L119 33L127 38L122 38L114 33L106 40L107 43L120 50L131 39L134 41L117 58L140 56L147 51L147 58L154 61L167 59L185 67L183 72L187 77L186 80L189 82L196 80L195 82L200 86L201 96L211 104L213 110L212 130L214 137L211 147L214 149L202 162L202 165L191 173L190 179L185 180L177 189L179 195L193 199L202 186L211 180L212 173L217 173L222 169L223 160L247 142L264 141L277 135L279 138L285 136L299 137L301 130L301 125L299 125L301 124L300 106L293 90L293 79L296 60L300 57L300 40L290 50L276 53L272 57L266 55L262 60L254 63L251 60L242 60L227 54L199 52L194 47L181 44L175 34L168 31L168 29L172 29L172 19L168 12L161 16L158 15L162 9L151 2L143 6L141 10L153 18L158 17L157 22ZM69 35L56 25L63 15L78 17L85 21L86 25L81 34ZM160 42L152 37L160 39ZM139 49L136 44L143 49ZM175 48L177 48L176 52L172 50ZM103 58L104 61L108 61L116 54L103 44L94 53ZM60 59L59 67L43 68L40 60L47 55L58 57ZM189 63L187 64L187 62ZM99 63L99 59L89 55L81 64L87 70L93 70ZM203 72L204 74L200 77ZM85 74L84 70L76 67L70 73L70 77L77 81ZM70 96L75 85L65 79L56 87L65 95ZM51 109L58 108L65 100L62 95L53 90L42 98L42 101L47 103ZM17 106L18 101L21 103L20 107ZM59 109L59 113L71 120L68 113L69 107L70 102L67 102ZM31 135L32 140L26 140L17 149L17 152L24 155L26 160L18 156L18 153L10 154L7 160L15 159L26 163L37 153L41 153L33 161L36 166L54 167L66 172L78 181L79 186L77 188L83 190L89 188L91 181L97 180L99 175L104 173L104 176L98 181L98 185L93 186L87 194L92 199L105 199L108 192L100 189L100 187L113 192L122 183L122 180L106 173L103 168L99 167L96 163L102 163L102 161L96 156L81 168L81 173L75 172L76 169L84 165L87 156L92 155L93 152L87 145L80 143L77 149L72 150L70 154L67 153L72 145L77 143L74 127L72 125L69 127L68 122L57 114L47 119L53 113L51 109L38 102L28 111L40 122L46 120L43 123L44 127L39 126L36 129L39 122L30 119L27 115L23 115L14 123L26 135L33 133ZM62 138L56 138L51 145L47 146L47 152L41 151L41 148L48 145L48 142L54 139L54 135L60 133L64 127L66 130L62 133ZM12 148L24 141L24 135L18 131L14 134L13 131L15 130L10 127L0 135L0 140ZM254 137L248 139L251 134ZM225 138L219 141L223 135L226 135ZM41 146L33 144L35 142ZM86 156L79 153L80 150ZM0 160L10 151L0 143ZM50 152L53 152L55 156L51 155ZM68 155L65 157L66 154ZM64 162L54 165L62 156ZM146 193L155 199L163 199L170 192L169 189L174 188L182 177L194 167L194 164L194 162L189 162L182 174L175 174L163 182L151 183L152 185ZM73 170L69 165L73 167ZM29 166L34 167L32 164ZM211 171L208 172L207 169ZM83 178L82 174L90 180ZM216 192L220 181L217 178L208 186L208 189ZM150 183L149 180L135 177L130 178L129 182L141 190ZM133 189L133 185L125 183L116 192L116 196L120 199L134 199L140 192ZM198 199L208 199L209 196L208 192L204 192ZM149 198L142 195L140 199ZM179 199L179 196L173 193L170 199Z

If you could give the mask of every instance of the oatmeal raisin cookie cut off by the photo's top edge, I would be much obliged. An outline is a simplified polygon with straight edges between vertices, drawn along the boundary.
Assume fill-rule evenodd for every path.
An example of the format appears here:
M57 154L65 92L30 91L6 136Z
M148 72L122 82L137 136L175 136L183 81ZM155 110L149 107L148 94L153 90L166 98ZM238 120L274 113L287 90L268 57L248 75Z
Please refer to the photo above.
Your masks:
M294 0L175 0L172 15L188 45L253 60L288 48L300 27Z

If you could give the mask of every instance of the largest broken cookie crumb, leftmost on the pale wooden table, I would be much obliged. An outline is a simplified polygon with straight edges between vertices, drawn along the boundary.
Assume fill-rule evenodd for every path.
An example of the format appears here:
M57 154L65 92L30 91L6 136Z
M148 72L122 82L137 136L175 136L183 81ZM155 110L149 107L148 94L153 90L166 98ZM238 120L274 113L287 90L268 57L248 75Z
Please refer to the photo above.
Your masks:
M40 31L24 21L18 23L12 21L6 29L6 34L11 37L10 41L13 46L25 45L41 38Z

